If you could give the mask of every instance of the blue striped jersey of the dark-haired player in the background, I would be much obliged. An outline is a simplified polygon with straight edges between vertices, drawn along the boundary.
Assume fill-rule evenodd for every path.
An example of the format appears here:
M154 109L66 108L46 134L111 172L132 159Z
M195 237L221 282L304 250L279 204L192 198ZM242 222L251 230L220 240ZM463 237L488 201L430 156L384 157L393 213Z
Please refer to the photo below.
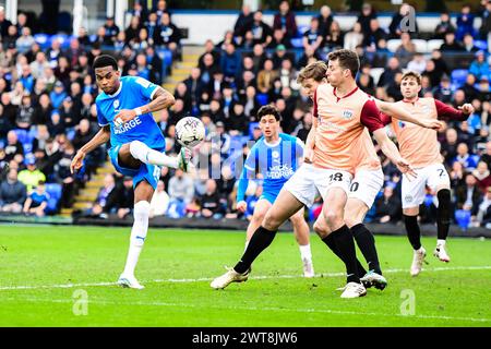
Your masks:
M253 173L261 173L263 193L277 195L285 182L294 176L302 157L303 143L296 136L280 133L275 144L266 143L263 136L258 140L246 159L241 181L256 178ZM241 186L243 185L239 184L238 201L243 200ZM247 184L244 188L247 189Z

